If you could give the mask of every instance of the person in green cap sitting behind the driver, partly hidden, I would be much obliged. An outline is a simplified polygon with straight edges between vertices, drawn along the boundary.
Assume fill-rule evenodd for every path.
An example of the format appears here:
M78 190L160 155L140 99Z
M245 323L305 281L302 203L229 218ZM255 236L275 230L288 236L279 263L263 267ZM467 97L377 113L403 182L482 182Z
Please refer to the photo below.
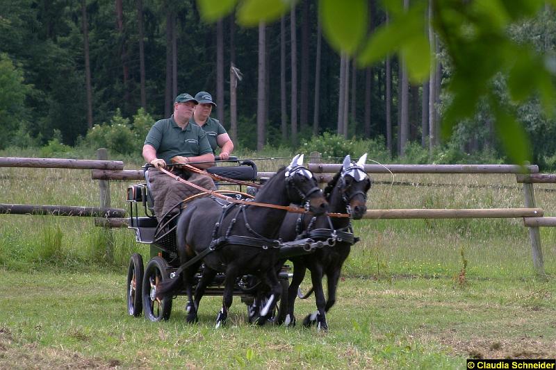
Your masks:
M210 117L213 108L216 107L213 97L208 92L200 91L195 95L195 100L199 104L195 106L190 123L201 126L206 133L208 143L211 144L213 153L215 154L216 148L220 146L220 159L227 160L230 157L230 153L234 151L234 143L231 142L226 129L224 129L218 119Z

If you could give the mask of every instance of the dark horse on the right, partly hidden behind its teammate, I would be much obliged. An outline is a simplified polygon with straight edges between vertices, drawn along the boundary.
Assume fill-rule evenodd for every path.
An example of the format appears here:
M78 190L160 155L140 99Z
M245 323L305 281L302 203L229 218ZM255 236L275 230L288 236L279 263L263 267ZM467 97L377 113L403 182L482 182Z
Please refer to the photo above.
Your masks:
M281 314L279 321L286 325L295 325L293 308L297 290L305 276L306 269L311 271L311 280L315 292L318 311L305 317L304 326L317 324L319 330L327 330L325 312L336 302L336 287L343 262L350 254L352 244L357 239L353 236L351 218L361 219L365 214L367 192L370 189L370 178L365 173L364 165L367 155L359 158L357 163L351 162L350 155L343 160L342 169L332 178L325 188L325 196L329 202L329 211L348 213L347 217L320 216L316 218L288 213L279 232L284 241L311 237L311 239L336 239L334 246L324 246L314 253L290 258L293 262L293 278L288 291L288 311ZM328 299L322 289L322 276L327 276Z

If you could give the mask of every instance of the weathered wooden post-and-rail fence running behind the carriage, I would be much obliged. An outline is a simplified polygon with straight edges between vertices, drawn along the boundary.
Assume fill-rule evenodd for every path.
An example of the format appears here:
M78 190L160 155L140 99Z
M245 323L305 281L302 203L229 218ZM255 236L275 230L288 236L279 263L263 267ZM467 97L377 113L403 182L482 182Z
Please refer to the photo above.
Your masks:
M141 170L124 170L120 161L107 160L106 149L97 151L98 160L68 160L56 158L6 158L0 157L0 167L41 167L92 169L92 179L99 180L100 206L54 206L54 205L13 205L0 204L0 214L14 215L65 215L92 216L98 226L124 227L125 210L110 208L111 194L109 180L142 180ZM311 153L307 167L313 171L320 183L327 183L341 165L320 162L319 153ZM517 183L523 184L525 208L493 209L390 209L367 210L363 219L468 219L468 218L523 218L529 228L532 246L532 260L537 274L544 274L543 253L539 227L556 226L556 217L543 217L543 210L536 207L534 183L556 183L556 175L539 174L539 167L530 165L366 165L368 174L515 174ZM525 173L525 174L524 174ZM259 178L270 177L274 172L259 172Z

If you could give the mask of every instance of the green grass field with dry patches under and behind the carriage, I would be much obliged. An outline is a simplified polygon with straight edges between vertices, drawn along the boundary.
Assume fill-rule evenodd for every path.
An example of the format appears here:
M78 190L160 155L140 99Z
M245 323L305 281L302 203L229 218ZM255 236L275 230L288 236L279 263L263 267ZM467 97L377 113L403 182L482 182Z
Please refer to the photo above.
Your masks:
M278 165L259 165L272 171ZM137 168L137 167L128 167ZM368 208L523 207L511 175L373 176ZM395 184L390 185L394 180ZM111 182L126 208L126 183ZM99 204L90 171L3 169L0 203ZM554 216L553 185L535 185ZM464 368L465 359L556 356L556 231L542 228L546 278L532 269L521 219L356 221L361 242L343 271L327 334L249 326L236 298L215 330L219 298L185 323L126 315L129 256L146 246L126 229L107 236L83 217L0 215L0 368ZM313 310L298 303L297 318Z

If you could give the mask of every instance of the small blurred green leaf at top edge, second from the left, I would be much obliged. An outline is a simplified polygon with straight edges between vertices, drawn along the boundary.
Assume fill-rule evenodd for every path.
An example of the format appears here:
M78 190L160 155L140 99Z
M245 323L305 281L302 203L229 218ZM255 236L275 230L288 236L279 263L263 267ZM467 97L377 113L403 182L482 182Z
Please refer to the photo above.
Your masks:
M243 26L272 22L284 15L290 6L290 0L243 0L238 8L238 22Z

